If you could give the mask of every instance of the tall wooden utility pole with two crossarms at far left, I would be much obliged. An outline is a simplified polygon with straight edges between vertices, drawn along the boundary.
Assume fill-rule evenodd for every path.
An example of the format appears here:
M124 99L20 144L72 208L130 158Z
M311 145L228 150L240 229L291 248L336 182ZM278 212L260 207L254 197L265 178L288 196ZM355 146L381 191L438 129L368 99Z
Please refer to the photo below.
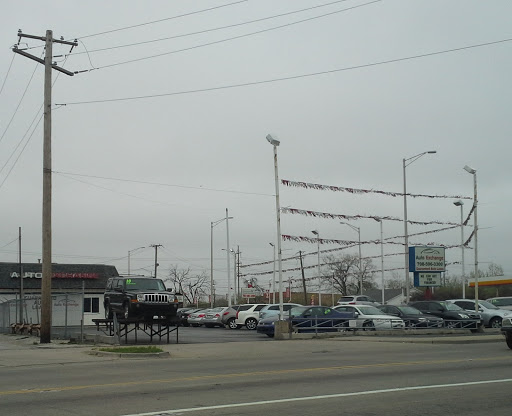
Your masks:
M44 60L18 49L21 38L37 39L45 42ZM53 43L70 45L71 50L78 43L53 39L53 31L47 30L46 36L26 35L18 30L18 45L12 51L44 65L44 128L43 128L43 264L41 281L41 344L51 342L52 330L52 68L73 76L64 68L53 64Z

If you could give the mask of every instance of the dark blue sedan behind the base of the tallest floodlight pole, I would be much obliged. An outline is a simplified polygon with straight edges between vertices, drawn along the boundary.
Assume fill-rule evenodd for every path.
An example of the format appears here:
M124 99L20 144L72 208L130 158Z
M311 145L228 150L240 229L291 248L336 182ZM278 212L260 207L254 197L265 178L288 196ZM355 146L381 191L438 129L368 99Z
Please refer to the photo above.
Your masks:
M348 321L352 318L353 313L338 312L327 306L297 306L290 309L285 320L288 320L298 332L332 332L348 328ZM274 322L278 319L278 316L260 319L256 331L273 337Z

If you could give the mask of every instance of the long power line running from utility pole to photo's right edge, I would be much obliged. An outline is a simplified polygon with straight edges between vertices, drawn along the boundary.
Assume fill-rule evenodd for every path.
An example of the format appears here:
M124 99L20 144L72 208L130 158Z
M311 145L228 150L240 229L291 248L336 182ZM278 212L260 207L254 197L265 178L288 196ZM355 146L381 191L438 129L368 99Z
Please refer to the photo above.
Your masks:
M289 77L273 78L273 79L267 79L267 80L262 80L262 81L244 82L241 84L222 85L219 87L176 91L176 92L170 92L170 93L164 93L164 94L140 95L140 96L135 96L135 97L110 98L110 99L104 99L104 100L91 100L91 101L74 101L74 102L61 103L61 104L56 104L56 105L59 105L59 106L83 105L83 104L111 103L111 102L118 102L118 101L144 100L144 99L149 99L149 98L170 97L170 96L174 96L174 95L196 94L199 92L209 92L209 91L218 91L218 90L225 90L225 89L231 89L231 88L249 87L249 86L254 86L254 85L270 84L270 83L274 83L274 82L290 81L290 80L295 80L295 79L300 79L300 78L308 78L308 77L315 77L315 76L320 76L320 75L333 74L336 72L352 71L355 69L369 68L372 66L386 65L386 64L402 62L402 61L410 61L413 59L420 59L420 58L426 58L426 57L435 56L435 55L442 55L442 54L446 54L446 53L459 52L459 51L467 50L467 49L481 48L481 47L485 47L485 46L497 45L500 43L505 43L505 42L510 42L510 41L512 41L512 38L497 40L497 41L493 41L493 42L479 43L479 44L469 45L469 46L461 46L459 48L445 49L442 51L429 52L429 53L424 53L424 54L419 54L419 55L411 55L411 56L406 56L404 58L396 58L396 59L389 59L386 61L372 62L369 64L354 65L354 66L349 66L349 67L344 67L344 68L331 69L331 70L327 70L327 71L319 71L319 72L312 72L312 73L308 73L308 74L292 75Z

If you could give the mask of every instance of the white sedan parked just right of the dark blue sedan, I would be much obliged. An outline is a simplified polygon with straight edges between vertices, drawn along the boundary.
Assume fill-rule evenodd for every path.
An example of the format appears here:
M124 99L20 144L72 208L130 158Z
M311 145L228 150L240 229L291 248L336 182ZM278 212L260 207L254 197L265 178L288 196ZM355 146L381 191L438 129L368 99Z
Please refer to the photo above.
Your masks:
M356 316L348 322L351 329L402 329L405 322L393 315L386 315L371 305L339 305L334 307L339 312L351 312Z

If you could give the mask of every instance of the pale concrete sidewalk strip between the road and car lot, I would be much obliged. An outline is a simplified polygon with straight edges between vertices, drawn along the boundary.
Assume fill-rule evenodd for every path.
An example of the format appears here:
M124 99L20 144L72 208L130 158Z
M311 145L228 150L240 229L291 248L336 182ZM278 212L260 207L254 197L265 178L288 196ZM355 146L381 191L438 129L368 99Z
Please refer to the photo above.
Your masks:
M379 331L380 332L380 331ZM290 348L290 343L294 344L294 349L307 351L311 348L311 343L317 345L326 345L332 342L388 342L388 343L427 343L427 344L473 344L502 342L505 343L504 336L500 331L491 331L487 333L471 334L468 333L448 333L448 334L419 334L402 335L391 333L361 333L358 335L342 334L341 336L332 336L332 334L304 334L295 336L292 340L259 342L258 348L248 348L241 344L250 344L250 342L226 342L222 344L158 344L162 350L169 353L162 359L198 359L218 357L247 357L251 353L261 356L262 349L264 354L286 353ZM217 346L217 347L215 347ZM84 363L98 361L112 361L118 359L137 359L137 358L119 358L119 356L91 354L95 349L101 347L112 347L108 344L70 344L65 340L53 340L49 344L39 344L39 338L28 335L0 334L0 369L8 367L24 367L38 365L54 365L69 363ZM144 358L143 356L140 358ZM146 357L147 358L147 357Z

